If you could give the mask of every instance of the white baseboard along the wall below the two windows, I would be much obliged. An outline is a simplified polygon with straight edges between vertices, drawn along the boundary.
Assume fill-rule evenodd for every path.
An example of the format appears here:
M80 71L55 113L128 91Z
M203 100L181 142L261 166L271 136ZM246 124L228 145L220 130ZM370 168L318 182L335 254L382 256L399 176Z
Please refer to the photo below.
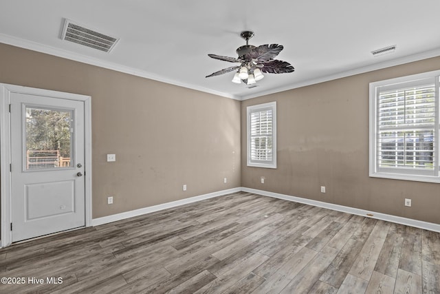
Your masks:
M365 216L367 218L375 218L377 220L386 220L387 222L395 222L397 224L405 224L406 226L416 227L419 229L426 229L428 231L435 231L435 232L440 233L440 224L434 224L432 222L423 222L421 220L412 220L410 218L402 218L400 216L391 216L391 215L385 214L385 213L378 213L375 211L367 211L364 209L346 207L346 206L342 206L342 205L338 205L338 204L332 204L332 203L327 203L327 202L322 202L322 201L317 201L317 200L310 200L307 198L300 198L300 197L296 197L296 196L288 196L288 195L284 195L284 194L280 194L280 193L274 193L274 192L263 191L263 190L258 190L258 189L241 187L241 191L255 193L255 194L262 195L262 196L269 196L269 197L273 197L273 198L289 200L289 201L293 201L293 202L299 202L299 203L303 203L303 204L309 204L309 205L313 205L316 207L322 207L322 208L332 209L332 210L336 210L336 211L342 211L342 212L346 212L346 213L352 213L352 214L355 214L358 216ZM373 215L373 216L371 216L371 215Z

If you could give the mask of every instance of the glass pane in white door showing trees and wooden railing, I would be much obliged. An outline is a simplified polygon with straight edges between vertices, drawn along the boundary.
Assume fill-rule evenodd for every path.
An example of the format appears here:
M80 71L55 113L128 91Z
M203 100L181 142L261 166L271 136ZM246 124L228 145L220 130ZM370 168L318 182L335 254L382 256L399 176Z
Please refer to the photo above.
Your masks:
M72 110L26 107L25 169L72 167Z

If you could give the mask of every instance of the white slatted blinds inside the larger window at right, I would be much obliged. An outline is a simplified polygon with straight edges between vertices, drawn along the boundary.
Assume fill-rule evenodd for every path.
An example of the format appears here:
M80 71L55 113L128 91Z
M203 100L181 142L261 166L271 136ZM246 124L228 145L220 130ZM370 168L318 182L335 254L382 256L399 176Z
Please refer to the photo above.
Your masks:
M380 92L377 160L380 167L434 169L434 83Z

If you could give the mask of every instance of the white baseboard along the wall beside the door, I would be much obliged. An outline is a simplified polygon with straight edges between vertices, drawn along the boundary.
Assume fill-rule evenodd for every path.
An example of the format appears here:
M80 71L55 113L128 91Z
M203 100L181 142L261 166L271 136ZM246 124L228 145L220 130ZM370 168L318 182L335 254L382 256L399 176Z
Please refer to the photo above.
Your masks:
M195 196L195 197L191 197L191 198L186 198L186 199L182 199L182 200L177 200L177 201L173 201L173 202L167 202L164 204L157 204L157 205L154 205L151 207L144 207L141 209L135 209L132 211L117 213L117 214L113 214L111 216L103 216L102 218L94 218L93 220L91 220L91 225L98 226L100 224L108 224L109 222L115 222L117 220L124 220L126 218L133 218L135 216L142 216L146 213L152 213L152 212L163 210L163 209L178 207L180 205L189 204L192 202L197 202L197 201L201 201L201 200L205 200L205 199L209 199L209 198L214 198L214 197L218 197L218 196L223 196L223 195L230 194L230 193L236 193L236 192L240 192L240 191L241 191L241 187L237 187L237 188L217 191L217 192L213 192L213 193L208 193L208 194L204 194L204 195L200 195L200 196Z

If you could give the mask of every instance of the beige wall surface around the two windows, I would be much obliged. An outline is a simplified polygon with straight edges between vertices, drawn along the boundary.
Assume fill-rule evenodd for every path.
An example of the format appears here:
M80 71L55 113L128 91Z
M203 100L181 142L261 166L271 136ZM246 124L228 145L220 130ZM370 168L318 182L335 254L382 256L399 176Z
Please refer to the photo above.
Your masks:
M439 68L437 57L243 101L242 186L440 224L439 184L369 178L369 83ZM270 101L278 168L247 167L246 107Z

